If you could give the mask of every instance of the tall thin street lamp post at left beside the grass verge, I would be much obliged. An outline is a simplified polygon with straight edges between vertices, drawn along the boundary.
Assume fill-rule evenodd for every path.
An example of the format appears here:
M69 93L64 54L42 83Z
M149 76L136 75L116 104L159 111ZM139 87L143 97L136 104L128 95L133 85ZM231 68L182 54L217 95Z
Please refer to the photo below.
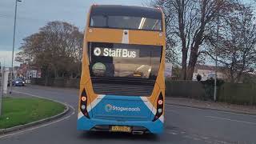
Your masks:
M13 39L13 51L11 57L11 70L10 70L10 81L13 80L14 74L14 46L15 46L15 34L16 34L16 19L17 19L17 4L22 2L21 0L15 0L15 14L14 14L14 39ZM12 85L10 85L10 94L12 93Z

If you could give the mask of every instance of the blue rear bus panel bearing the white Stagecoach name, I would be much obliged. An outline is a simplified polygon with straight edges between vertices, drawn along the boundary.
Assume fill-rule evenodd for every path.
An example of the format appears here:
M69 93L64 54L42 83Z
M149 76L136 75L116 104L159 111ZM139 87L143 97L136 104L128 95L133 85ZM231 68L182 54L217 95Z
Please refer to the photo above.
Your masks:
M149 120L151 110L139 97L106 95L92 110L94 118L109 120Z

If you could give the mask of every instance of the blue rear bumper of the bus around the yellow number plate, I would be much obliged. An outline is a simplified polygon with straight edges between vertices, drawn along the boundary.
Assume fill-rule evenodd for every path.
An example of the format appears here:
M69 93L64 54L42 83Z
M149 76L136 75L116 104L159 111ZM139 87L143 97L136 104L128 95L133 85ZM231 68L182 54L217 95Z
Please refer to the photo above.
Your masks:
M159 119L152 121L114 121L96 118L82 117L78 119L77 129L87 131L110 131L110 126L130 126L132 132L143 131L145 133L162 134L163 122Z

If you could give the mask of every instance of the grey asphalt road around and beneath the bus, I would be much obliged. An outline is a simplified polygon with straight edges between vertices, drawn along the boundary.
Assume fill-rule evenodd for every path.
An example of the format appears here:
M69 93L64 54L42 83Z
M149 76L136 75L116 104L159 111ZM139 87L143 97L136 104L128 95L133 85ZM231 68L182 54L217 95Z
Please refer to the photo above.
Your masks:
M43 86L15 87L14 90L65 102L70 105L70 112L63 118L42 126L0 135L1 144L256 143L256 116L168 104L166 104L166 128L162 135L82 132L76 130L78 90Z

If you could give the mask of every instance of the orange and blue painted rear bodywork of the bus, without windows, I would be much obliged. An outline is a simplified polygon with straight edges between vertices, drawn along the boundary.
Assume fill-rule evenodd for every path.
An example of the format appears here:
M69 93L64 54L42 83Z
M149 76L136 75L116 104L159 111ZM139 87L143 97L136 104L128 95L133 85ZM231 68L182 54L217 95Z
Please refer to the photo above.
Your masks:
M164 14L162 14L164 15ZM166 30L165 21L162 16L163 31L146 31L146 30L118 30L106 28L92 28L90 27L90 16L87 19L87 28L84 36L83 59L82 59L82 76L79 91L78 104L78 130L92 130L94 126L142 126L150 133L160 134L163 131L164 122L164 105L163 112L160 118L155 122L154 115L158 106L158 96L162 94L163 102L165 102L165 57L166 57ZM146 97L138 96L120 96L120 95L105 95L95 94L93 84L90 78L89 58L88 58L88 42L108 42L108 43L126 43L138 45L154 45L162 46L162 58L158 69L158 77L155 81L155 86L151 95ZM86 90L87 95L87 110L90 118L86 118L81 107L81 94ZM133 105L129 102L135 102ZM139 108L141 111L122 111L110 110L110 106L125 107L125 108ZM113 107L112 107L113 109ZM132 115L135 114L135 117ZM109 113L109 115L108 115ZM114 115L117 115L114 118ZM138 118L136 118L138 117Z

